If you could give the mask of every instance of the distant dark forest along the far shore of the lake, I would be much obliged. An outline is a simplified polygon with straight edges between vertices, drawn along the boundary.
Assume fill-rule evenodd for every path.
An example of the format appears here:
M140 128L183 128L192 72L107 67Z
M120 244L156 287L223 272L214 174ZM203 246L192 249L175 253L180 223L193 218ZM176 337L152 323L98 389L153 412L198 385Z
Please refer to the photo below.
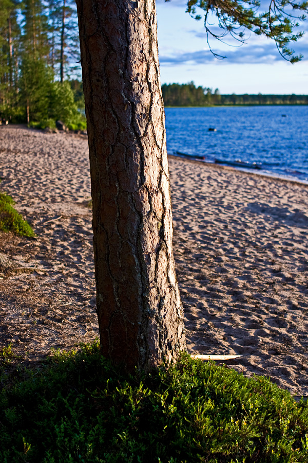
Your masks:
M229 106L255 104L308 104L308 95L220 95L218 88L196 87L187 84L163 84L165 106Z

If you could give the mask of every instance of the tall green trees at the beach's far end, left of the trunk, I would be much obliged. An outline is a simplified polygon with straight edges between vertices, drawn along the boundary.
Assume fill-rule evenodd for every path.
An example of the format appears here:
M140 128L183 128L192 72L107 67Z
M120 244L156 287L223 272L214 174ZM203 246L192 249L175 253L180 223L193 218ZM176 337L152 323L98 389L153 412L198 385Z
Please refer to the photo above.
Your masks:
M1 0L2 120L53 127L61 119L84 126L69 82L80 68L79 61L73 0Z

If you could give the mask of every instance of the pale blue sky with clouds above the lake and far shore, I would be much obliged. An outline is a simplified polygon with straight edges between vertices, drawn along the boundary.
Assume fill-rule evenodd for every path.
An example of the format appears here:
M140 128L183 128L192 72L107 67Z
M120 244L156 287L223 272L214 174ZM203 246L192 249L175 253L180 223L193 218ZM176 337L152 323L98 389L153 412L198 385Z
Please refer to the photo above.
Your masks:
M185 13L185 0L156 4L162 83L192 80L222 94L308 94L308 21L307 32L293 47L304 55L299 63L286 62L273 41L254 34L240 47L212 41L213 50L227 57L218 60L208 49L203 21Z

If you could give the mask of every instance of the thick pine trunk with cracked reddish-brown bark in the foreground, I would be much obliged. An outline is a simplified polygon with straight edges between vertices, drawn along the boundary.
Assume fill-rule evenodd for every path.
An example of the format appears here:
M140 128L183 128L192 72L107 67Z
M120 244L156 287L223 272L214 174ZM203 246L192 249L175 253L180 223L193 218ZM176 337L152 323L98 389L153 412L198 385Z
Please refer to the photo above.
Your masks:
M102 353L127 370L185 349L154 0L77 0Z

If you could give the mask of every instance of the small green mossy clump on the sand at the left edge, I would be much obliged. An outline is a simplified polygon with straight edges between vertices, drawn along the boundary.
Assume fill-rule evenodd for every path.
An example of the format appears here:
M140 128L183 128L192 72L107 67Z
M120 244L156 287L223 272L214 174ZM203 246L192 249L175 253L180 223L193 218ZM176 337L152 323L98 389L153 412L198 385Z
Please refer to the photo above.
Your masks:
M5 193L0 193L0 230L12 231L16 235L34 236L30 225L13 208L14 201Z

